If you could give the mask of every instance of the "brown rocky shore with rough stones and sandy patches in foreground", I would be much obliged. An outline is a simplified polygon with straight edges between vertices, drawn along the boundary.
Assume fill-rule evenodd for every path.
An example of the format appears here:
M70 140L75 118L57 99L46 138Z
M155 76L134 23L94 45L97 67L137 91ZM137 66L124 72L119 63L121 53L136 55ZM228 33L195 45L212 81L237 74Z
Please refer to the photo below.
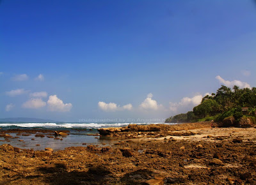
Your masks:
M256 184L255 128L160 127L105 129L128 139L63 151L3 144L0 184Z

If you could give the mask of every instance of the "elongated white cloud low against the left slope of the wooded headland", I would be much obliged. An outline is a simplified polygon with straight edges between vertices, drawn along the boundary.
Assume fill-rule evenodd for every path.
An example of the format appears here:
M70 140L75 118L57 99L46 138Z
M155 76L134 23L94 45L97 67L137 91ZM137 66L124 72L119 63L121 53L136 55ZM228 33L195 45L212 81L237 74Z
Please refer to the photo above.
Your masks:
M211 96L211 94L209 93L204 94L204 96L206 95ZM179 103L170 102L169 108L174 113L186 112L191 108L195 107L196 105L199 105L202 101L202 98L204 97L201 94L193 96L192 98L184 97Z

